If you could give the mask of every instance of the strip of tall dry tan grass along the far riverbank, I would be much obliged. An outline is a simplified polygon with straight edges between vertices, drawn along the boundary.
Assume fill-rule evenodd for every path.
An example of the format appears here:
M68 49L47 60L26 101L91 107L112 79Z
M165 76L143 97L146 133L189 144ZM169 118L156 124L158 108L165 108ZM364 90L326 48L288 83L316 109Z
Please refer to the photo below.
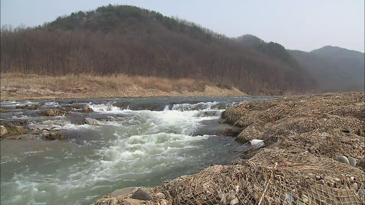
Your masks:
M4 80L3 80L4 78ZM168 79L161 77L143 77L125 74L109 76L93 74L68 74L66 76L38 76L35 74L1 74L1 83L5 87L17 89L41 88L52 91L80 92L80 90L109 89L120 90L125 86L138 85L144 89L157 89L165 92L189 90L204 91L208 82L194 79Z

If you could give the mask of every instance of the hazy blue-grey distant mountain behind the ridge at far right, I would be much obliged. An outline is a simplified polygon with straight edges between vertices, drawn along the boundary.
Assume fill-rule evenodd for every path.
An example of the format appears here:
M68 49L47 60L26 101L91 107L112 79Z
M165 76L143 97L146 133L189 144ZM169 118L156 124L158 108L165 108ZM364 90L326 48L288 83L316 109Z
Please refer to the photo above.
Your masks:
M322 92L364 91L364 53L335 46L289 53L318 82Z

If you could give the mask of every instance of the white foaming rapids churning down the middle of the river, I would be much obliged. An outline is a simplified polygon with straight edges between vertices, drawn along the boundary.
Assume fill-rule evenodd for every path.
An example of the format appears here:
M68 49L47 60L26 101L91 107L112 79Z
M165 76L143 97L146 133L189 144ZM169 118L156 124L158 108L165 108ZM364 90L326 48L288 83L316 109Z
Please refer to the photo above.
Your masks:
M78 152L74 152L75 148L62 150L60 156L47 156L46 159L50 162L45 164L50 163L52 166L59 161L74 162L72 165L57 167L57 170L52 173L45 174L47 172L34 170L14 173L14 178L10 182L1 182L1 189L16 193L14 197L7 197L4 203L52 204L62 200L72 201L71 199L77 198L75 197L77 195L76 204L84 204L84 200L91 199L85 193L90 194L91 189L108 187L116 181L138 182L138 180L146 180L148 173L159 173L166 167L191 165L189 162L199 160L199 157L187 155L186 152L189 152L189 149L200 149L199 141L210 137L208 135L190 136L191 133L202 125L202 121L219 119L223 111L212 109L212 106L218 102L177 104L171 110L166 106L164 111L120 109L113 103L92 104L90 102L88 105L95 112L123 113L128 117L117 117L122 121L105 122L105 125L99 127L72 123L66 123L64 126L51 125L60 129L97 129L98 131L112 129L112 132L107 132L111 135L111 140L83 142L82 146L78 147L86 149L97 144L94 154L88 153L80 157ZM51 106L52 102L46 105ZM127 128L133 129L133 132L126 131ZM99 141L100 143L93 143ZM53 149L55 148L51 147L47 151L53 152ZM32 167L32 169L35 168ZM100 196L102 194L105 193L101 193ZM92 192L91 195L95 193ZM92 198L96 197L92 196ZM51 199L57 201L51 201ZM75 200L72 204L75 204Z

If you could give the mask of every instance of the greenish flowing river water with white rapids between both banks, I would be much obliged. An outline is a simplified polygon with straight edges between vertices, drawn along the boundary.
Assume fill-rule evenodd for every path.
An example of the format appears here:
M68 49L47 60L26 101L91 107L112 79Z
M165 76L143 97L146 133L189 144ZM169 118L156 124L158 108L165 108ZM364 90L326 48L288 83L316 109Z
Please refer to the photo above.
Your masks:
M218 123L224 109L242 100L271 98L3 101L1 107L9 109L0 115L3 123L47 124L72 139L1 140L1 204L91 204L115 189L159 186L225 163L242 144L216 135L230 127ZM44 103L39 109L88 105L95 112L44 117L39 110L15 109L39 103ZM80 123L85 117L104 124Z

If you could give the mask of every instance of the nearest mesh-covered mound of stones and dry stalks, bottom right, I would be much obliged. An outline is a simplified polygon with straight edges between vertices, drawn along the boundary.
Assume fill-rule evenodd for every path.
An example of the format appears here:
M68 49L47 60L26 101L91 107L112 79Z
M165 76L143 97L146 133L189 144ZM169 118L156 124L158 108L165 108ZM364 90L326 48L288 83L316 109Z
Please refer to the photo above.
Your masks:
M300 149L261 149L164 182L172 204L364 204L364 172Z

